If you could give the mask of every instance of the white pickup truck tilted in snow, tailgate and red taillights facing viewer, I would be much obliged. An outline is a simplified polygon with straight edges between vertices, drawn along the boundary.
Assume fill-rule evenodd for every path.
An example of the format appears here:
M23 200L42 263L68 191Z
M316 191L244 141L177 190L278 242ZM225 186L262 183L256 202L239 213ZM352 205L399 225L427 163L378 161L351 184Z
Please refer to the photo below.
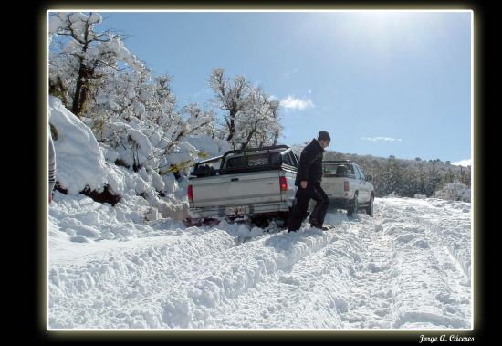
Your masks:
M219 166L218 166L219 163ZM288 223L298 157L286 145L234 150L196 163L188 185L190 225L225 217Z

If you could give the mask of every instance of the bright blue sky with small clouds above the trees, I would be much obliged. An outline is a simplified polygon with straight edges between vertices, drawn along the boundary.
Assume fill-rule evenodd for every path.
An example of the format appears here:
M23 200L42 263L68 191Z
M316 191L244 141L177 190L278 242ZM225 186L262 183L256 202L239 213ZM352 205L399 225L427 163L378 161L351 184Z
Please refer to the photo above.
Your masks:
M282 143L323 130L338 152L471 158L470 12L100 14L173 77L180 108L209 108L207 79L224 68L282 101Z

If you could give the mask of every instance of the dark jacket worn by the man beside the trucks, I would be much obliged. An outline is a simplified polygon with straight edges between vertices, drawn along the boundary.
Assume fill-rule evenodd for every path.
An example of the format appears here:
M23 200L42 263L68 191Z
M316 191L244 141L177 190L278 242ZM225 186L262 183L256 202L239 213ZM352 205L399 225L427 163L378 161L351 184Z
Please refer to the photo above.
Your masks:
M298 164L298 173L295 185L299 186L303 180L316 185L322 178L322 148L316 139L313 139L301 152Z

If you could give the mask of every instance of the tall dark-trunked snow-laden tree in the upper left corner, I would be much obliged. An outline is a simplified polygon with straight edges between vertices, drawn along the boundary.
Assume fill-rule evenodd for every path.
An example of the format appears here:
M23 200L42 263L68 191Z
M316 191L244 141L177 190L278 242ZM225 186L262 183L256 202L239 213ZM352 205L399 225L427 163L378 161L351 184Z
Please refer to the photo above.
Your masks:
M92 89L120 70L120 63L136 71L144 65L122 42L119 34L99 32L102 17L96 13L59 12L49 18L49 89L61 97L78 117L86 110Z

